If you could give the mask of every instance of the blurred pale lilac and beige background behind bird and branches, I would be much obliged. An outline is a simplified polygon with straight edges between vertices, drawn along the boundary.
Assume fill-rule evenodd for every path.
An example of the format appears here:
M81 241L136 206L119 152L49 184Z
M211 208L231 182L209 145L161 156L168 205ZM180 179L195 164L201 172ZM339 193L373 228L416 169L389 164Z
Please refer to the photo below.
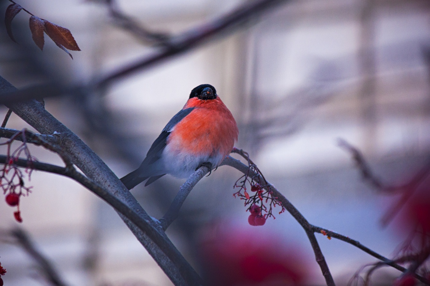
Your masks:
M3 17L10 3L0 3ZM31 41L28 14L20 12L12 23L19 44L9 39L3 24L0 29L0 75L17 88L49 80L89 83L160 49L160 43L121 27L102 0L18 3L70 29L82 51L71 52L72 61L45 35L41 52ZM147 30L175 35L243 3L117 0L111 7ZM426 0L290 1L234 33L127 76L97 94L48 98L46 109L122 177L138 167L191 89L212 84L239 125L236 146L249 152L266 179L310 223L393 257L406 234L395 223L382 228L380 219L394 197L369 187L337 140L361 150L387 185L407 182L426 164L429 14ZM7 109L3 106L0 112L3 116ZM12 115L6 127L20 130L28 125ZM39 161L61 164L58 156L40 147L31 151ZM279 243L285 257L300 257L299 264L305 265L297 274L302 278L289 282L324 285L306 234L289 213L268 219L264 226L248 224L243 201L232 195L240 176L224 166L203 178L167 231L173 243L203 273L202 256L214 255L201 247L208 235L220 239L215 244L232 246L244 233L264 234ZM151 216L160 218L183 182L164 176L132 193ZM43 172L34 172L26 184L34 188L21 200L19 227L28 231L67 285L171 285L117 213L88 190ZM5 285L50 285L7 232L18 225L14 211L0 202ZM225 242L220 233L226 230L228 239L237 240ZM376 261L344 242L317 238L338 285L346 285L362 265ZM384 268L373 279L391 285L399 274Z

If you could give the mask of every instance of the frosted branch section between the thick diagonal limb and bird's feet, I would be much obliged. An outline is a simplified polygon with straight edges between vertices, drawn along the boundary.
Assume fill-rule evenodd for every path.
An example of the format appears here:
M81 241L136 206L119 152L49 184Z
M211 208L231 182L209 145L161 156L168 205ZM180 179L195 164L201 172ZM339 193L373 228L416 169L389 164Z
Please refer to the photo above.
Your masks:
M181 186L178 195L176 195L172 204L167 210L167 213L160 219L160 223L164 230L166 230L169 225L178 218L179 210L184 204L185 199L190 194L191 190L196 186L196 184L209 172L209 168L202 166L198 168Z

